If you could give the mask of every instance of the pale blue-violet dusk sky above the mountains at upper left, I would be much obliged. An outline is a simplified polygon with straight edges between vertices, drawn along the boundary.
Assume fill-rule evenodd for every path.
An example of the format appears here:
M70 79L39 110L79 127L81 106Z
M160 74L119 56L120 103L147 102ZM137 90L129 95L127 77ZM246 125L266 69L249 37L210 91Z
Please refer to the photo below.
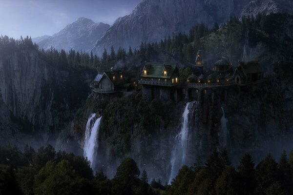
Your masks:
M53 35L80 17L113 24L142 0L0 0L0 35Z

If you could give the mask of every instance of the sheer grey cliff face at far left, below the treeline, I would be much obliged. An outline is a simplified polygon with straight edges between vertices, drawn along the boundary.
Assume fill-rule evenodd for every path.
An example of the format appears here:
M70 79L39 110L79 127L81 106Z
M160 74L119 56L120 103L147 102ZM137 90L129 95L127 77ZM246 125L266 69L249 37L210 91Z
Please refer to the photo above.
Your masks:
M12 129L47 143L73 118L93 78L94 71L51 66L35 50L1 55L3 124L8 125L7 131L12 123L19 124L23 128Z

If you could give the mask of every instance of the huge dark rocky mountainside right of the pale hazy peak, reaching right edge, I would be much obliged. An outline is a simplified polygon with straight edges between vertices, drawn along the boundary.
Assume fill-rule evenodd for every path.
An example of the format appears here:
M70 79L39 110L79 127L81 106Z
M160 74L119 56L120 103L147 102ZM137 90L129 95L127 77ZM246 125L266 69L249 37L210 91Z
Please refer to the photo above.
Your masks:
M188 32L199 22L212 27L214 23L227 22L230 16L255 15L258 12L269 14L290 11L293 7L288 0L250 1L144 0L130 15L117 19L97 41L93 51L101 55L104 48L109 49L111 45L115 49L119 46L128 48L129 45L135 48L139 47L141 41L159 41L172 34Z

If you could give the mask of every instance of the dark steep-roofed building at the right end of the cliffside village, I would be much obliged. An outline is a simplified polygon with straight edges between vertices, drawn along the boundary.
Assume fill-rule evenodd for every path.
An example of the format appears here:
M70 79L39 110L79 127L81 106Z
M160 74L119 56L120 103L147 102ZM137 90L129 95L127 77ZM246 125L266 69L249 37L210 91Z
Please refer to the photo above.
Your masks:
M248 84L263 79L263 72L257 61L239 61L234 71L236 84Z

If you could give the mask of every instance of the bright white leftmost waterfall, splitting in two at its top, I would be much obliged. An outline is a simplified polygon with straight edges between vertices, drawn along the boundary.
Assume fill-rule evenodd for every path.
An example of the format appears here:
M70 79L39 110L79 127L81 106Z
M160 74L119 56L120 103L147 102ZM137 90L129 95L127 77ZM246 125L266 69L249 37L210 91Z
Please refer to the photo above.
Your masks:
M93 168L96 157L96 151L99 146L99 129L101 118L94 121L96 114L91 114L86 123L85 136L84 136L84 157L90 161L90 166Z

